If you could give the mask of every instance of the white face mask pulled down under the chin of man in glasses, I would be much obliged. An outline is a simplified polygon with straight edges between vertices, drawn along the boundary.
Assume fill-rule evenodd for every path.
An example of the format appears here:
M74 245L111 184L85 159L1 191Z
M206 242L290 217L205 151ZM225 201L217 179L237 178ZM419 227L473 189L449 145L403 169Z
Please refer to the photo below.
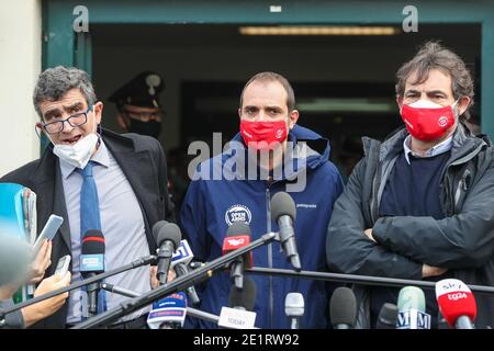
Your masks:
M92 133L85 136L74 145L55 145L53 148L53 154L58 156L60 160L64 160L74 167L83 169L91 159L92 151L94 150L98 139L98 135Z

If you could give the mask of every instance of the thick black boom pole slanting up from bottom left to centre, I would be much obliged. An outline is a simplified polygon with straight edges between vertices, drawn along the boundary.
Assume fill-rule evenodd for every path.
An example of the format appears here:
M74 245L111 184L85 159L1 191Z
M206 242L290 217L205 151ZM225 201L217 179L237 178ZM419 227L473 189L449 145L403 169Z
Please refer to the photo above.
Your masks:
M194 285L205 279L209 279L213 275L213 273L217 270L225 268L229 262L234 261L237 257L243 256L250 250L254 250L262 245L269 244L274 239L279 238L277 233L268 233L261 236L259 239L250 242L249 245L242 247L237 250L231 251L225 256L222 256L207 264L204 264L202 268L198 268L197 270L190 272L189 274L182 275L167 285L161 285L158 288L155 288L146 294L143 294L141 297L135 297L128 302L124 302L120 304L120 306L106 310L98 316L89 318L86 321L75 326L72 329L88 329L99 327L104 324L110 324L127 314L133 313L146 305L151 304L153 302L168 296L172 293L177 293L187 288L188 286Z

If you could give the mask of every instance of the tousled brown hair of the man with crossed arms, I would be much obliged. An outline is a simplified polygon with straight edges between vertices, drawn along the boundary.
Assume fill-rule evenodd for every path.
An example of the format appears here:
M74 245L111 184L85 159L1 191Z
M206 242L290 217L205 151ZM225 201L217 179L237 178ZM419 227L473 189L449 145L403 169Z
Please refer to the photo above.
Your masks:
M463 120L469 120L469 109L473 105L474 95L472 76L467 69L464 61L438 42L427 42L420 47L412 60L400 67L396 72L396 94L403 98L406 80L412 73L417 73L415 81L412 83L419 84L427 80L431 69L439 69L451 77L451 90L454 99L461 97L470 98L470 105L461 116Z

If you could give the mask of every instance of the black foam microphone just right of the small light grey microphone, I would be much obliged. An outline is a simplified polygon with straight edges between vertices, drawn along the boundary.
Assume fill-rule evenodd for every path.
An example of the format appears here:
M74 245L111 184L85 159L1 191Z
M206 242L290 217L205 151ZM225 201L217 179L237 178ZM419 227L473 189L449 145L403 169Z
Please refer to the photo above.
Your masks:
M357 299L351 288L335 290L329 302L329 317L335 329L352 329L357 320Z

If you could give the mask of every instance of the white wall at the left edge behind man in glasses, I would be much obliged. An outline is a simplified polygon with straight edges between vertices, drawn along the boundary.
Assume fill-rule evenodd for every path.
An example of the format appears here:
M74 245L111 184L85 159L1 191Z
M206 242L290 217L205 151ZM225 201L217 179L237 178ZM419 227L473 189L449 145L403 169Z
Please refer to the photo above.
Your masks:
M0 11L0 177L36 159L32 93L41 70L41 0L10 0Z

